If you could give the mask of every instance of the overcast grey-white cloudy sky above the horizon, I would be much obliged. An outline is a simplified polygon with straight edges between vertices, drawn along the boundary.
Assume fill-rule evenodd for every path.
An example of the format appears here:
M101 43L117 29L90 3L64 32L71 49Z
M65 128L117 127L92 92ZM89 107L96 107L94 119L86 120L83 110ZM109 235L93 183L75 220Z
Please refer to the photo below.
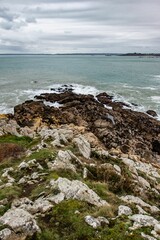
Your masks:
M0 53L160 52L159 12L160 0L0 0Z

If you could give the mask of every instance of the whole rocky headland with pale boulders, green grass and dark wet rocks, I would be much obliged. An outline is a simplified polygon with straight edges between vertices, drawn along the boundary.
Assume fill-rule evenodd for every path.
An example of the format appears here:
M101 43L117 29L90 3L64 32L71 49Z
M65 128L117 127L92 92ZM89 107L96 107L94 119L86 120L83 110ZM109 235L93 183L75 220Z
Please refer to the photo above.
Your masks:
M72 87L0 115L0 239L160 239L160 122Z

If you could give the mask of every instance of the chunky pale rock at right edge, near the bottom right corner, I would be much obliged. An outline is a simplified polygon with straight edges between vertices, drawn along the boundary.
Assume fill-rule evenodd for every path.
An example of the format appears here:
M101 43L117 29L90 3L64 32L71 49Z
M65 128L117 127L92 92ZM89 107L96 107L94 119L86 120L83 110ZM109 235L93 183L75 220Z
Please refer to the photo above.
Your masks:
M134 222L133 227L130 228L132 230L141 227L154 227L156 224L158 224L158 221L155 218L148 215L134 214L129 218Z

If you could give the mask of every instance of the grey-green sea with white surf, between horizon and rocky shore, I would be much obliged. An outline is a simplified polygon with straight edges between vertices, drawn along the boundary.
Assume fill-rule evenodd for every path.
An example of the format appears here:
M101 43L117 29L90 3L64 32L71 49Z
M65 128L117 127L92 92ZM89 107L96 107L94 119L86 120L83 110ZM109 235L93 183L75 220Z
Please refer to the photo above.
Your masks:
M160 58L106 55L0 55L0 113L63 85L107 92L134 111L154 110L160 120Z

